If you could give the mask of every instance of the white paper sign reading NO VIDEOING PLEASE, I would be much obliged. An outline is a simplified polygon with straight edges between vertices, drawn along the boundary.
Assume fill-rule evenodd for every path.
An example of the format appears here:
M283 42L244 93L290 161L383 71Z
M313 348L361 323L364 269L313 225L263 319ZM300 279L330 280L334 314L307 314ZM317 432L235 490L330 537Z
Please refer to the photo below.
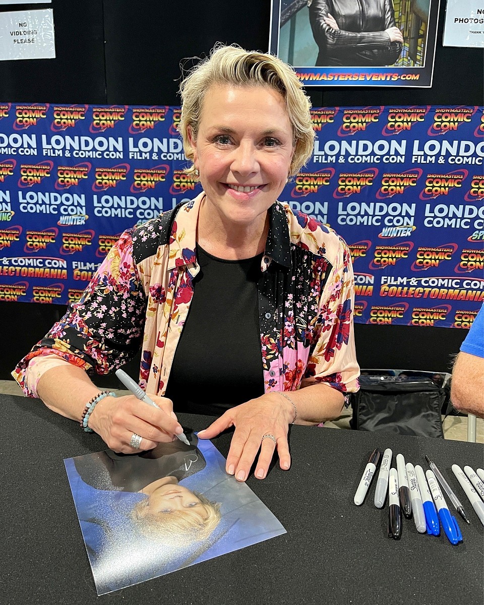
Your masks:
M53 10L0 13L0 60L55 59Z

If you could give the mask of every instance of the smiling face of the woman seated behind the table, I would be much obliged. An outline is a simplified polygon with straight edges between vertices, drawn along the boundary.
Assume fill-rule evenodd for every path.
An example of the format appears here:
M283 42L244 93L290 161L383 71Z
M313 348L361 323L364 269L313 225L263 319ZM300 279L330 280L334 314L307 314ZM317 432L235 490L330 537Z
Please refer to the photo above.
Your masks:
M215 86L204 96L197 139L189 137L206 216L227 230L263 226L294 152L281 94L264 85Z

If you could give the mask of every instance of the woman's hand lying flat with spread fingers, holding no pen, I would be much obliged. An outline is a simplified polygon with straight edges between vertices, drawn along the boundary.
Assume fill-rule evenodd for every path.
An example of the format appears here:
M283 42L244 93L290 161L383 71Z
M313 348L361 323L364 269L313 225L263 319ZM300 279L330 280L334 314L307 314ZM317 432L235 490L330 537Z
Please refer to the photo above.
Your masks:
M280 467L289 469L291 457L287 430L293 420L293 412L284 397L278 393L268 393L227 410L208 428L200 431L198 437L212 439L234 426L234 436L225 466L227 473L235 475L238 481L245 481L260 448L255 477L264 479L276 448ZM275 442L270 437L263 439L266 434L272 435Z

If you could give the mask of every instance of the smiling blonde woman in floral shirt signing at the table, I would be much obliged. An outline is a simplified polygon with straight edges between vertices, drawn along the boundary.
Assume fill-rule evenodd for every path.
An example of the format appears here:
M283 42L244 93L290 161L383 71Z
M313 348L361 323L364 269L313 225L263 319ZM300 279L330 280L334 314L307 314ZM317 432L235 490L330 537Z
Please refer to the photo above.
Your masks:
M292 422L336 417L358 390L350 253L276 201L313 149L310 103L292 69L217 48L183 81L181 99L189 172L203 193L128 229L14 376L123 453L181 433L173 406L216 413L198 436L234 426L227 473L244 481L260 450L263 479L276 448L289 469ZM140 384L160 410L99 394L88 378L139 348Z

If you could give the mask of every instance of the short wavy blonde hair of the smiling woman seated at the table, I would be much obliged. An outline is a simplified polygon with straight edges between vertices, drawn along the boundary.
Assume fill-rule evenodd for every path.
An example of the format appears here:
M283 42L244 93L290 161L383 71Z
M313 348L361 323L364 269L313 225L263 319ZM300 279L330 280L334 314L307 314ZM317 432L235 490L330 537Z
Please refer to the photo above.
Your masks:
M301 80L289 65L272 54L247 51L237 45L215 46L211 55L194 67L180 84L181 118L178 129L185 155L192 162L187 172L195 176L194 152L188 129L191 128L197 139L205 94L217 85L269 86L281 94L294 137L295 150L290 174L298 174L312 154L315 137L309 111L311 102L302 90Z

